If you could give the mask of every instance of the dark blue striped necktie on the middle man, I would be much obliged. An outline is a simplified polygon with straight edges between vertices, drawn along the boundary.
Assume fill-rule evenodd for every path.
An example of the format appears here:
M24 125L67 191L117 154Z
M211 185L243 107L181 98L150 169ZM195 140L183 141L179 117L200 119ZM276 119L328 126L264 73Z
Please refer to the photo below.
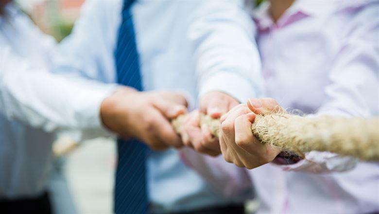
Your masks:
M142 90L141 74L130 6L125 0L122 22L115 52L118 83ZM118 165L115 187L116 214L145 214L148 212L146 190L146 155L148 147L135 139L121 140L118 145Z

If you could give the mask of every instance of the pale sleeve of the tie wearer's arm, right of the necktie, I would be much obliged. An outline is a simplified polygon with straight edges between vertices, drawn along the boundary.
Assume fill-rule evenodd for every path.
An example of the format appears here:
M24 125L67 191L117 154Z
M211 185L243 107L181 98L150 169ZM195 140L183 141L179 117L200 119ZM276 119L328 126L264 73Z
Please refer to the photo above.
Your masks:
M262 94L255 24L243 2L206 0L189 18L200 97L217 90L246 102Z

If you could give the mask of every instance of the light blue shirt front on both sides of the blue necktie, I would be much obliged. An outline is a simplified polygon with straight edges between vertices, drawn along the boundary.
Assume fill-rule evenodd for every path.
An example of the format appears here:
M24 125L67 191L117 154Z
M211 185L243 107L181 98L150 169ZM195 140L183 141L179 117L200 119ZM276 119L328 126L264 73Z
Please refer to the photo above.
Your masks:
M201 1L138 0L132 6L145 90L187 91L195 100L197 79L188 44L187 18ZM89 1L72 34L61 44L57 72L102 82L116 81L114 50L122 0ZM148 160L150 201L155 212L186 211L233 203L213 192L174 149L155 152ZM236 199L241 202L241 199Z

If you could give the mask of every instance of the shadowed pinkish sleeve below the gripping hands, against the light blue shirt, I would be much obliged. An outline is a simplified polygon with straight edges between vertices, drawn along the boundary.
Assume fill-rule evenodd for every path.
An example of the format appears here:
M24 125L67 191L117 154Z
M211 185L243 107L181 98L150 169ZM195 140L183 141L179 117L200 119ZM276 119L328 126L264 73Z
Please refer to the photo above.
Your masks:
M210 157L193 149L180 151L183 162L207 180L210 186L225 198L247 199L252 196L252 182L247 170L224 160L223 156Z

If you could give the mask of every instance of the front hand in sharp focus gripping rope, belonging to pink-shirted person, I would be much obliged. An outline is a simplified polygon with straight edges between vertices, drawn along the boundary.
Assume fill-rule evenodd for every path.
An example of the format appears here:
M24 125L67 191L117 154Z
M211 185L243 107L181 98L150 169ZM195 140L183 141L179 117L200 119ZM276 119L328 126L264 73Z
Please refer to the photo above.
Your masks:
M282 108L272 98L250 99L247 105L234 107L221 118L220 146L224 159L248 169L271 162L280 149L265 145L254 137L251 125L256 114Z

